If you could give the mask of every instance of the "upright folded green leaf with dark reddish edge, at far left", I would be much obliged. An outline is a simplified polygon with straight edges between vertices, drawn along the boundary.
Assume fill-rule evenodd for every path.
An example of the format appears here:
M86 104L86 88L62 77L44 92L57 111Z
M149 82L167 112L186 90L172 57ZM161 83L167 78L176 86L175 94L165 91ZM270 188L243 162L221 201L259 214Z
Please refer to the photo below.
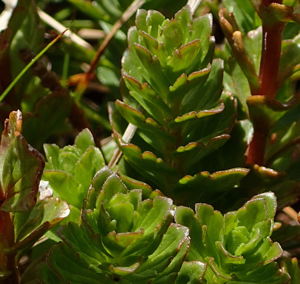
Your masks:
M45 167L44 157L21 133L22 113L12 111L0 145L0 208L5 212L28 212L35 205Z

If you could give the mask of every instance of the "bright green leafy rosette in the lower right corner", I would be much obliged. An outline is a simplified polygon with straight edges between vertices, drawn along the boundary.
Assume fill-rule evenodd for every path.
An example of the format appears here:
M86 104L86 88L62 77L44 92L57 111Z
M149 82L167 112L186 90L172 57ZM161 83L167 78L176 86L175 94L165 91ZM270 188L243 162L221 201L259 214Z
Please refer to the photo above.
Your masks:
M190 208L177 207L176 222L190 229L187 260L206 262L205 279L211 284L288 283L289 275L274 262L283 250L270 238L276 207L271 192L254 196L224 216L204 203L196 204L196 215Z

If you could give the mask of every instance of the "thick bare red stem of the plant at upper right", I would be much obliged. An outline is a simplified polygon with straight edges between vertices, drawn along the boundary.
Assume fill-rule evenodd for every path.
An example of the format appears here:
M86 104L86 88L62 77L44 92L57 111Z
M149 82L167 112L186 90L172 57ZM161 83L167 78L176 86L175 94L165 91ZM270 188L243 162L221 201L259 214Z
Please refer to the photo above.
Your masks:
M270 2L282 3L282 1L263 1L266 6ZM275 99L278 91L277 75L281 56L282 31L285 23L278 22L274 25L262 25L262 55L259 68L260 89L258 93L252 95L267 96ZM254 135L249 145L247 164L264 164L265 147L270 131L267 121L259 121L259 125L254 123Z

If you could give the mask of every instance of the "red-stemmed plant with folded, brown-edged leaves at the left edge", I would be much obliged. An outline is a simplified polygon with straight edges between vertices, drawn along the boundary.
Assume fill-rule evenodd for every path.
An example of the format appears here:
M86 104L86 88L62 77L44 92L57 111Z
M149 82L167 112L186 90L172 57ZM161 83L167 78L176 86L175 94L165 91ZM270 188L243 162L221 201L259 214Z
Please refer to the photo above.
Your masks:
M11 112L0 145L1 282L19 283L21 257L70 212L67 203L39 188L44 166L22 135L22 113Z

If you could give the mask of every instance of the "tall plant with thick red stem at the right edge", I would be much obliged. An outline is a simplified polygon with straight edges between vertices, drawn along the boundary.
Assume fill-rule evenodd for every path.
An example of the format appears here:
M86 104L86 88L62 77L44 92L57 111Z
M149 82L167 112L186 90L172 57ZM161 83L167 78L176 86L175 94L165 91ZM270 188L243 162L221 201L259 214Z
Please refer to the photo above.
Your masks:
M254 130L247 153L250 172L237 194L241 198L247 192L245 202L273 191L279 209L295 203L299 193L297 11L294 1L267 0L224 0L218 11L226 37L225 48L216 52L225 60L224 89L238 101L238 119L250 118ZM223 160L226 149L207 162Z

